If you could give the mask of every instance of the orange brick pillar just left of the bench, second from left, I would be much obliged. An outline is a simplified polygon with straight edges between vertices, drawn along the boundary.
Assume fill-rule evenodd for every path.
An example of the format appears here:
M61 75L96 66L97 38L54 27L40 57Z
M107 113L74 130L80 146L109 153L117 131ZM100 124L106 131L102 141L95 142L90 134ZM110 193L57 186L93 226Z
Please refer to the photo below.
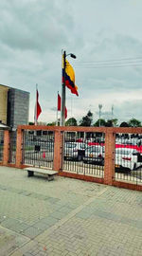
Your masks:
M16 167L17 168L20 168L22 165L23 134L24 134L23 130L17 129L17 141L16 141Z

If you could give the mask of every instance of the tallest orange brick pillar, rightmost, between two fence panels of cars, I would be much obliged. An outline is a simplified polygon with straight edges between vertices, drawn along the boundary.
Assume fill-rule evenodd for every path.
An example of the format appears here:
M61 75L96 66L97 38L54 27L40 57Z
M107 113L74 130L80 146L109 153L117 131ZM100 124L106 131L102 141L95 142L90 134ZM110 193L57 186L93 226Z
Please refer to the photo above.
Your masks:
M105 134L104 184L112 185L115 176L115 134L111 131Z

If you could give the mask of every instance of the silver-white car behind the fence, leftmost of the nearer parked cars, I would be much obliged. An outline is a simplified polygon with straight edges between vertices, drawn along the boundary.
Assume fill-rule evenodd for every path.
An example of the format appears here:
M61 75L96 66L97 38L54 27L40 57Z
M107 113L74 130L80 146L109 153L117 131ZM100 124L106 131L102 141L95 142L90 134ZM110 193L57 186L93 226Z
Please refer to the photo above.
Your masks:
M86 144L81 142L66 142L64 145L64 159L81 160L85 154Z

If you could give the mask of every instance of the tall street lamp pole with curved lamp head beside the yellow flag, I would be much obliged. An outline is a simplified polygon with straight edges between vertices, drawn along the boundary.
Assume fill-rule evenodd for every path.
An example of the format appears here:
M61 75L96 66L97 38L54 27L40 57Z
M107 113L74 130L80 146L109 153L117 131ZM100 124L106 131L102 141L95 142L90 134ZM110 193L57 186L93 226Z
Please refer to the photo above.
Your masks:
M62 111L61 111L61 126L65 124L65 67L66 67L66 56L70 56L73 59L76 59L76 55L73 53L66 54L65 50L63 51L63 81L62 81Z

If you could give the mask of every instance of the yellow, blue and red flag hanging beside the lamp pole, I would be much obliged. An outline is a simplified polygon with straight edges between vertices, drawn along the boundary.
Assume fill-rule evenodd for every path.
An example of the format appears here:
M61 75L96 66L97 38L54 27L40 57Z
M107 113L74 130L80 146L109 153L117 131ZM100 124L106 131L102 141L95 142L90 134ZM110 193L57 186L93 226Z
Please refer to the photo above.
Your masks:
M67 60L65 60L65 74L64 74L64 66L62 66L62 82L64 82L64 76L65 76L65 86L71 90L71 93L79 96L78 86L75 84L75 72L72 65L69 64Z

